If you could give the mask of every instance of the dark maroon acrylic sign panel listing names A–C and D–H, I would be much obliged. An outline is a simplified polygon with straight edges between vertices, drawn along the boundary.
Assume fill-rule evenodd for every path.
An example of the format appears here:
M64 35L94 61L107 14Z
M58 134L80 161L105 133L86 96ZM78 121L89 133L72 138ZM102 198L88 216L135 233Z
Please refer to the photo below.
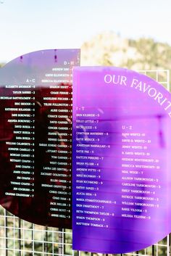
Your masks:
M0 70L0 204L43 226L72 226L72 67L79 62L79 49L53 49Z

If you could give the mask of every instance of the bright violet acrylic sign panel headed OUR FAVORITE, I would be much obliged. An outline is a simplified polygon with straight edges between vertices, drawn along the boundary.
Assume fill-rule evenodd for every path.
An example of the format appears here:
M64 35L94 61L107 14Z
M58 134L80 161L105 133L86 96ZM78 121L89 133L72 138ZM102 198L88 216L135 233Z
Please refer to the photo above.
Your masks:
M115 67L75 67L73 249L133 252L171 231L171 95Z

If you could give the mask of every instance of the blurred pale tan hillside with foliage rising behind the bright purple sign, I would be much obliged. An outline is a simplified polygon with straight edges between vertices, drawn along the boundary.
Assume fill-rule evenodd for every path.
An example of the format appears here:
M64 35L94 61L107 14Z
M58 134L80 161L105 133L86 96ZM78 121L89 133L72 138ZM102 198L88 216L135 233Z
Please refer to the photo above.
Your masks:
M171 70L171 46L153 38L121 38L109 31L83 44L81 65L112 65L132 70Z

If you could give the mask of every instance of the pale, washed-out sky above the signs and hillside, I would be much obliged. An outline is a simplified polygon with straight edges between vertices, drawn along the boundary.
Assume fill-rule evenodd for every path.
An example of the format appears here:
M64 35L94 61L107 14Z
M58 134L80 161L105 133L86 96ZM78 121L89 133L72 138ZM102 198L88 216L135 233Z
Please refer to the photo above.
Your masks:
M80 48L104 31L171 45L171 0L0 0L0 62Z

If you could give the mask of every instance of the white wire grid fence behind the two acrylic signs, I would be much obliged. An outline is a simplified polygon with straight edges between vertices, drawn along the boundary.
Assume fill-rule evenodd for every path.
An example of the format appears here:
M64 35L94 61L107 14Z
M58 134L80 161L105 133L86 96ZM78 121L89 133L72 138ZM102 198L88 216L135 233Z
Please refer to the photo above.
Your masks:
M170 90L169 70L139 70ZM171 236L139 252L127 255L170 256ZM0 207L0 256L93 256L96 252L72 250L72 231L28 223Z

